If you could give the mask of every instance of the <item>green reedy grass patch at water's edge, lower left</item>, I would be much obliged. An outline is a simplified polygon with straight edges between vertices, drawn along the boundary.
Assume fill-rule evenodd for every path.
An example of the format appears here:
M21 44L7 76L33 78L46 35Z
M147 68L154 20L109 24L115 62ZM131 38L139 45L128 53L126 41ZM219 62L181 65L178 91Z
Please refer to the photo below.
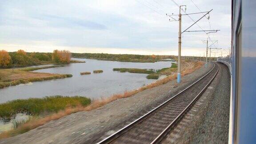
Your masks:
M0 117L8 119L19 112L30 115L42 115L43 113L59 112L67 107L87 106L90 103L91 100L83 96L46 96L44 98L12 100L0 104Z

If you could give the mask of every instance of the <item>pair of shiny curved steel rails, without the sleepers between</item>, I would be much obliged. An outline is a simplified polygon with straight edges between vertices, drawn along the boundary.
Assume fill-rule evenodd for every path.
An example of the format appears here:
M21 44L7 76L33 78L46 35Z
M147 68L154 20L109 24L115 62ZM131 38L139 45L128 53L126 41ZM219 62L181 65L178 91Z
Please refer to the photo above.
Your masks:
M217 64L213 63L214 67L204 76L202 76L199 80L197 80L196 82L194 82L193 84L189 85L187 88L185 88L184 90L182 90L181 92L179 92L178 94L176 94L175 96L173 96L172 98L166 100L164 103L160 104L158 107L154 108L153 110L151 110L150 112L146 113L144 116L141 116L140 118L138 118L137 120L133 121L131 124L128 124L127 126L125 126L124 128L121 128L120 130L118 130L117 132L113 133L111 136L108 136L107 138L105 138L104 140L101 140L99 143L97 144L105 144L105 143L110 143L113 140L117 139L119 136L121 136L122 134L124 134L124 132L130 130L133 126L135 126L136 124L141 123L143 120L146 120L148 117L150 117L154 112L156 112L157 110L160 110L161 108L164 108L164 106L166 106L169 102L171 102L172 100L176 99L177 97L179 97L182 93L186 92L189 88L192 88L195 84L197 84L200 80L203 80L206 76L208 76L215 68L217 68L216 73L214 73L214 75L212 76L211 80L204 86L204 88L200 91L200 93L190 102L190 104L188 104L188 106L168 125L167 128L164 129L164 131L162 131L160 133L160 135L158 135L152 142L151 144L156 144L159 143L162 138L169 132L169 130L182 118L182 116L184 116L184 114L192 107L192 105L196 102L196 100L200 97L200 95L205 91L205 89L209 86L209 84L211 84L212 80L216 77L218 71L219 71L219 67L217 66Z

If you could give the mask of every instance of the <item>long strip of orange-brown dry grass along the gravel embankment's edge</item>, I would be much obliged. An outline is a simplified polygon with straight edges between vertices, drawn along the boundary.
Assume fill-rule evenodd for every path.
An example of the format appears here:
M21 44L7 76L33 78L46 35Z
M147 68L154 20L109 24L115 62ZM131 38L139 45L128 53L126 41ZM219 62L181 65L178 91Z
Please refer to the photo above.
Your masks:
M203 62L198 61L198 62L193 62L192 64L188 64L188 63L186 63L186 64L188 65L188 67L183 69L183 71L181 73L181 76L185 76L185 75L188 75L188 74L196 71L197 69L199 69L203 65ZM67 116L67 115L70 115L70 114L75 113L75 112L91 111L93 109L99 108L99 107L101 107L105 104L108 104L112 101L115 101L117 99L130 97L130 96L133 96L136 93L142 92L146 89L150 89L150 88L154 88L154 87L157 87L159 85L162 85L162 84L166 84L171 80L175 80L176 78L177 78L176 75L167 76L166 78L164 78L162 80L157 80L156 82L154 82L152 84L146 85L142 88L139 88L139 89L136 89L136 90L133 90L133 91L130 91L130 92L126 91L123 94L114 94L110 97L106 97L106 98L103 98L103 99L100 99L100 100L94 100L94 101L92 101L92 104L90 104L87 107L77 106L75 108L66 108L64 111L58 112L56 114L52 114L50 116L46 116L44 118L32 119L28 123L21 125L20 127L18 127L15 130L1 133L0 134L0 139L10 137L10 136L15 136L15 135L18 135L18 134L21 134L21 133L24 133L24 132L28 132L29 130L31 130L33 128L37 128L37 127L47 123L48 121L57 120L57 119L60 119L63 116Z

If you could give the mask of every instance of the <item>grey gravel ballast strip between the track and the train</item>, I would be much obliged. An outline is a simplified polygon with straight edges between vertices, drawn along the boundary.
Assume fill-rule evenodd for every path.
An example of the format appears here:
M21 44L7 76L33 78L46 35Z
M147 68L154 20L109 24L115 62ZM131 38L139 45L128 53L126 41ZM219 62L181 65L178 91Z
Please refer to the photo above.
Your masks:
M230 104L230 75L220 64L215 80L166 136L164 144L227 144Z

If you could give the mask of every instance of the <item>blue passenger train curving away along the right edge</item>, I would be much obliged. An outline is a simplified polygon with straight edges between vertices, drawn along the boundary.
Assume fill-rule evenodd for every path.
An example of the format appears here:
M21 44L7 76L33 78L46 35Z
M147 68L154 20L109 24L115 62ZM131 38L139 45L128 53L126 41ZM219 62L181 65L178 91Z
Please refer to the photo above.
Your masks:
M229 144L256 143L256 0L232 0Z

